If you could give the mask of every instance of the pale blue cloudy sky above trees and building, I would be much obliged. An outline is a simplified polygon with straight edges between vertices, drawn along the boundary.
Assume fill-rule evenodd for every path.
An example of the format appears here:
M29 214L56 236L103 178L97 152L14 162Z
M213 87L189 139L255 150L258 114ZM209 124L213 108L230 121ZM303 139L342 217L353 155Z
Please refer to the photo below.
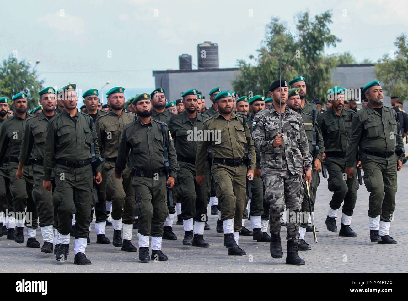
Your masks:
M255 54L265 25L277 16L293 28L299 11L311 16L331 9L332 33L342 39L327 54L349 51L357 61L377 61L395 50L408 31L407 1L156 1L1 0L0 58L17 53L40 63L45 86L107 89L153 88L152 70L178 69L197 44L218 43L220 67ZM249 16L252 13L253 16ZM111 53L111 57L109 57ZM193 67L195 68L195 67ZM143 90L143 89L142 89ZM151 92L151 91L147 91Z

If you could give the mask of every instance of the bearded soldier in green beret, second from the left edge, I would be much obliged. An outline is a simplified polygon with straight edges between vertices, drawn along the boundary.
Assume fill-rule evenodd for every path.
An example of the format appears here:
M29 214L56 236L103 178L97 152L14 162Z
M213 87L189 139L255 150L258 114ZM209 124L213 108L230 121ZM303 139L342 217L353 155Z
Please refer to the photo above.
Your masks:
M21 180L16 177L20 147L24 138L24 121L31 117L27 113L27 94L18 93L12 98L15 116L2 123L0 135L0 160L9 157L10 190L13 195L13 208L16 214L16 231L14 241L24 243L24 216L27 227L27 247L39 248L40 243L35 239L35 229L38 227L37 208L33 201L33 168L30 154L27 164L23 168ZM0 163L1 164L1 163ZM27 207L27 211L25 208ZM28 214L26 214L28 212ZM32 215L31 215L32 212Z

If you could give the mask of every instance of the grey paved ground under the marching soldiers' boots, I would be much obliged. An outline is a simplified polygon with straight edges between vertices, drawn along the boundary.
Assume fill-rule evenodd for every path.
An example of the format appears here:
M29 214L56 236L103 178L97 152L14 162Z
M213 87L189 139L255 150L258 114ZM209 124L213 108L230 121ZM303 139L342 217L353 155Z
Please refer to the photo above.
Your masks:
M246 251L246 256L228 256L228 249L223 243L222 234L215 231L216 219L211 218L211 230L205 231L204 237L210 248L184 247L182 245L182 225L174 225L178 240L163 240L163 251L169 257L166 262L140 263L138 253L120 251L113 245L96 244L95 227L92 225L91 243L86 248L86 255L92 261L91 266L80 267L73 264L73 239L70 254L65 263L55 260L50 254L40 249L29 249L24 244L17 244L0 238L0 272L408 272L407 226L408 214L408 165L404 165L398 176L397 207L395 221L391 225L391 236L397 245L379 245L371 243L368 236L368 192L360 186L357 192L357 205L352 221L352 228L358 233L357 238L341 238L327 231L324 220L327 215L331 193L327 189L326 179L317 190L315 222L320 231L319 242L313 243L313 235L306 233L306 241L312 245L312 251L299 252L306 265L296 267L285 264L286 243L282 233L284 257L274 259L269 253L269 244L257 243L252 237L240 237L239 245ZM341 213L340 213L341 214ZM337 218L339 228L340 215ZM250 222L246 222L250 227ZM282 229L284 232L286 228ZM37 231L38 240L40 230ZM113 227L107 227L106 235L113 236ZM25 237L25 231L24 231ZM137 234L133 233L133 243L137 246Z

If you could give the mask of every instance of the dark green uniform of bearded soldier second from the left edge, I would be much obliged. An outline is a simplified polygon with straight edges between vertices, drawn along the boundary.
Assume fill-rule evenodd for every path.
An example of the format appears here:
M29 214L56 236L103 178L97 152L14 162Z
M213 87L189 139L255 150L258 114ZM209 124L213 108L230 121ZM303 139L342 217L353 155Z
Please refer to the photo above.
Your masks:
M27 118L29 117L31 117L31 115L27 114ZM9 157L10 190L13 196L13 207L16 212L16 217L19 215L22 217L27 207L27 212L32 212L32 215L27 214L25 217L25 225L27 228L37 229L37 208L32 197L34 180L31 155L29 156L29 160L27 160L27 164L23 167L22 178L18 180L16 177L19 162L18 157L24 139L26 119L14 116L3 122L0 135L0 158ZM24 227L23 221L16 220L16 227Z

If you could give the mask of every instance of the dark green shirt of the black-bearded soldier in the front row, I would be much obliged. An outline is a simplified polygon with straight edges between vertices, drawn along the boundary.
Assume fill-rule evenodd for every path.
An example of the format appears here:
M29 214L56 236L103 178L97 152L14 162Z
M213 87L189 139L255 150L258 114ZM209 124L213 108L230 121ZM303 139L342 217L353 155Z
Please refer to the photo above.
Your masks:
M170 177L176 178L180 167L177 164L177 154L166 124L164 124L164 133L169 154ZM151 124L144 125L139 119L133 121L124 128L118 159L115 163L115 173L122 174L128 158L132 171L164 171L163 153L161 122L151 119Z

